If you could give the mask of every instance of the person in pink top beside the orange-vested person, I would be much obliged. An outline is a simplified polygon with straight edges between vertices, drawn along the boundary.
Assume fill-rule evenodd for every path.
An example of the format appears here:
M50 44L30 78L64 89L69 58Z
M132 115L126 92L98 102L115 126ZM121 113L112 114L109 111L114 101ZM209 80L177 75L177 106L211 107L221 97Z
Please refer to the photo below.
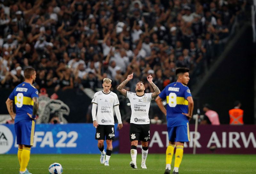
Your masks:
M218 113L213 111L209 104L204 105L203 111L205 112L204 119L201 120L200 124L220 125Z

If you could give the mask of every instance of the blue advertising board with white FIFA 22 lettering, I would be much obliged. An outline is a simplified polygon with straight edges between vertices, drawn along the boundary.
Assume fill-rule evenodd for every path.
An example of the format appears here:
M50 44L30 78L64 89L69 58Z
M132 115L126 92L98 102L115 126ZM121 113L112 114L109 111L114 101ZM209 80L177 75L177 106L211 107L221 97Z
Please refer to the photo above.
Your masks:
M116 127L117 125L115 129ZM118 131L115 133L118 137ZM97 144L95 127L91 123L36 124L31 153L93 154L99 153ZM105 147L107 147L106 144ZM113 149L116 147L118 147L118 141L113 142ZM0 154L16 154L17 150L14 125L0 125Z

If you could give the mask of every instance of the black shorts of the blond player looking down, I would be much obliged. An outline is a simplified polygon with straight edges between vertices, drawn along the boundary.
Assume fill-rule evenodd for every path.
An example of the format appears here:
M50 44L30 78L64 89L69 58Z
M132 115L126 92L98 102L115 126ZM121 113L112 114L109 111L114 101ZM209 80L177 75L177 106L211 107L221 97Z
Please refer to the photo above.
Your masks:
M95 139L96 140L114 140L115 126L114 125L99 125L96 128Z

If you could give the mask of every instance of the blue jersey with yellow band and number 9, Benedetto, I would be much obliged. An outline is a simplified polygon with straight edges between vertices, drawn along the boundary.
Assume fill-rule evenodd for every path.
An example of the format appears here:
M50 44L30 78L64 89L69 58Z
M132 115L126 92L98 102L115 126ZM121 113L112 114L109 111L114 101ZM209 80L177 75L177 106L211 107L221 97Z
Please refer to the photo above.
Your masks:
M33 113L33 97L38 97L38 91L30 83L23 82L14 88L9 98L15 101L15 123L32 120L27 113Z

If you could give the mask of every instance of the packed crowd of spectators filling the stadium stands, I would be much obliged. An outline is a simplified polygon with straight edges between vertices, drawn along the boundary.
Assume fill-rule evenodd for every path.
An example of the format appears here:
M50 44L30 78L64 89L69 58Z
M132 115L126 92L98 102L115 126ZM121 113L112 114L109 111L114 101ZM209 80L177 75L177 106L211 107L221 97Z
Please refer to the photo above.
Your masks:
M37 70L36 88L112 87L151 74L160 90L175 68L200 76L223 50L241 0L37 0L0 2L0 86ZM129 85L128 85L129 86ZM145 84L146 92L152 92Z

